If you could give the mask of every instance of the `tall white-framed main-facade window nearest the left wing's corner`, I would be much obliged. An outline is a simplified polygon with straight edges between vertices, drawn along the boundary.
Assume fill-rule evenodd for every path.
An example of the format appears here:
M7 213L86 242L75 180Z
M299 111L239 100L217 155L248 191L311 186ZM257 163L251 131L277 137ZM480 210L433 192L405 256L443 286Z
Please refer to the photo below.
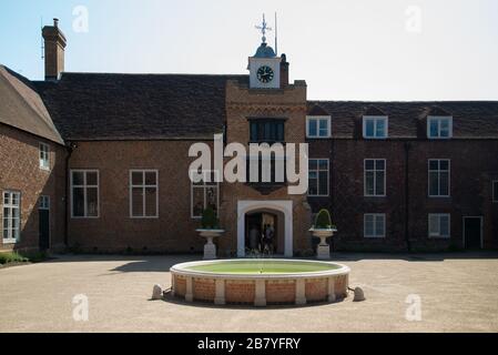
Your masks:
M99 171L71 170L71 217L99 217Z

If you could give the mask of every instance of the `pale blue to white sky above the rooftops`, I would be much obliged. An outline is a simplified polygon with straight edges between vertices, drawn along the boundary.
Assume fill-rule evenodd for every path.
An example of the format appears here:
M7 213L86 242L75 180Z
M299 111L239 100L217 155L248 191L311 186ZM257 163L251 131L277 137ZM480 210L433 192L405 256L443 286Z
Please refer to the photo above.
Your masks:
M88 32L73 27L88 9ZM0 63L43 78L40 20L65 71L247 73L265 12L308 99L498 100L496 0L2 0ZM82 22L78 22L82 23ZM268 34L273 45L273 33Z

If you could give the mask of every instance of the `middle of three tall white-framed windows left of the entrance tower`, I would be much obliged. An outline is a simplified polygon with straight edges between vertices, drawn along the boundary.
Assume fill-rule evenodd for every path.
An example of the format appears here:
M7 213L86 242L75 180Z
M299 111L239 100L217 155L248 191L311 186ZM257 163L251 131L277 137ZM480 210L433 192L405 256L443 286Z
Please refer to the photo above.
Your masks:
M159 216L157 170L130 170L130 217Z

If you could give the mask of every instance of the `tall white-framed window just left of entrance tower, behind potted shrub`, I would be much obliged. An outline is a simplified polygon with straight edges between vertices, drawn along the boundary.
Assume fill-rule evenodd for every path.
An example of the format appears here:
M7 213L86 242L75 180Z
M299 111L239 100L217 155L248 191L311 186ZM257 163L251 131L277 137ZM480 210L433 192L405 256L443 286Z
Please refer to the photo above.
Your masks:
M220 206L220 184L214 171L203 171L200 182L191 181L191 217L202 217L202 212L211 206L217 214Z

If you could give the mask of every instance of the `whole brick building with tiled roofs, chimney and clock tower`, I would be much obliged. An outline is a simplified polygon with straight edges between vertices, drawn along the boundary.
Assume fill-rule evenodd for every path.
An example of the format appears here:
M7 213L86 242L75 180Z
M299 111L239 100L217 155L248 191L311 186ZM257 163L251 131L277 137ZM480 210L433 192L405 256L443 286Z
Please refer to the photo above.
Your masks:
M321 207L337 225L335 250L498 247L498 102L312 101L265 42L248 75L71 73L58 23L43 37L44 81L2 69L2 94L16 93L3 79L16 78L17 99L43 111L30 110L32 121L21 105L10 120L0 114L0 190L17 192L21 206L18 233L16 206L3 201L2 250L197 252L206 206L226 230L223 256L244 256L248 230L267 224L275 253L309 251ZM47 132L33 129L43 122ZM277 182L192 183L189 150L212 146L214 134L244 148L308 143L307 193ZM50 146L49 170L40 143ZM49 245L37 233L41 195L51 201Z

